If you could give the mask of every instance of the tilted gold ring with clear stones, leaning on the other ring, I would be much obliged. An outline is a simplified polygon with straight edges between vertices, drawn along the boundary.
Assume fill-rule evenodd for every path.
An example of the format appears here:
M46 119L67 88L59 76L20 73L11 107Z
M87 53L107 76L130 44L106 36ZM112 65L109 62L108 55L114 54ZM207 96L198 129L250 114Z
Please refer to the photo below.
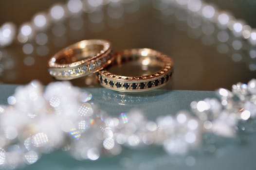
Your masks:
M98 72L111 63L111 43L102 39L79 41L49 60L49 73L57 80L71 80Z

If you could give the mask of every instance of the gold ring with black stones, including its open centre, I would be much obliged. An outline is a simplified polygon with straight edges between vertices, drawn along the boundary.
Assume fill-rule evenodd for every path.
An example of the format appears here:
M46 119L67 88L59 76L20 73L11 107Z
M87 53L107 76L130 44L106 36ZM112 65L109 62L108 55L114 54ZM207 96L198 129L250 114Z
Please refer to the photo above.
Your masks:
M126 75L119 75L120 72ZM143 92L166 85L172 73L173 61L169 56L152 49L131 49L114 54L110 66L98 72L98 80L111 90Z

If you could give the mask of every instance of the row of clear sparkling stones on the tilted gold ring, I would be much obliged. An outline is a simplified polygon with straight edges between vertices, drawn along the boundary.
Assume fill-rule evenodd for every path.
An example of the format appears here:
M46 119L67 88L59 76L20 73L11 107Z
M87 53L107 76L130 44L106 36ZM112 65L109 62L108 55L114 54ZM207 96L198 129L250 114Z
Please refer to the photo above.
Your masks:
M79 68L63 70L63 71L50 70L50 75L57 76L57 77L79 76L102 67L107 62L107 59L109 58L110 58L110 55L108 55L107 58L103 57L101 60L97 60L94 63L90 63L88 65L84 65Z

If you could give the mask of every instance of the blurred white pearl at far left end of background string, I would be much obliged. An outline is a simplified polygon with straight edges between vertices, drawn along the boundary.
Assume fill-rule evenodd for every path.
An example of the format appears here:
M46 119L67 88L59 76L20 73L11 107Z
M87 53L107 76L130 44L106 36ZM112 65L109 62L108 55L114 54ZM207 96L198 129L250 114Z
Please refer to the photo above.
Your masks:
M10 45L16 35L16 27L13 23L7 22L0 27L0 47Z

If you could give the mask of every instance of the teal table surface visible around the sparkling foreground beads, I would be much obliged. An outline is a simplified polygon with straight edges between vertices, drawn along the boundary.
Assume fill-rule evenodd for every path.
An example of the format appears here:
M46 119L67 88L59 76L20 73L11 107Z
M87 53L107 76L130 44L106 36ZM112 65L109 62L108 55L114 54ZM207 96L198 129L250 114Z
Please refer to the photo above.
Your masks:
M7 97L15 88L16 85L0 85L0 104L7 103ZM213 91L154 90L122 94L105 88L85 90L92 93L91 102L109 115L139 108L152 120L188 110L192 101L216 97ZM102 156L96 161L78 161L69 153L56 151L43 155L37 163L22 170L256 170L256 133L238 133L234 139L215 138L217 142L211 153L205 152L208 146L204 145L185 156L168 155L161 147L150 146L136 150L124 148L120 155Z

